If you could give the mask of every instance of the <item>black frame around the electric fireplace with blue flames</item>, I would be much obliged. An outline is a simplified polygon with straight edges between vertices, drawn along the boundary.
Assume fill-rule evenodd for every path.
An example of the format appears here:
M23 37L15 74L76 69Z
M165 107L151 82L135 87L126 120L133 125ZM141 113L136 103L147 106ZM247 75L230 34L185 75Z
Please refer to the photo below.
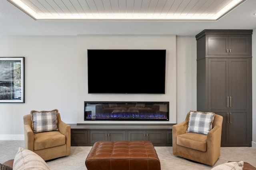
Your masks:
M167 104L167 119L86 119L86 103L88 104ZM168 101L84 101L84 121L170 121L170 102Z

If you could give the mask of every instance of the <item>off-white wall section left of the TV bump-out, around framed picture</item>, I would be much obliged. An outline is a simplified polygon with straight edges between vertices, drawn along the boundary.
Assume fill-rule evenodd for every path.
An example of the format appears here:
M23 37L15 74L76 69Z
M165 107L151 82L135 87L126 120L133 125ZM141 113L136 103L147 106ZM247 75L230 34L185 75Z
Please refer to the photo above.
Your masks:
M25 103L0 103L0 139L24 139L23 116L31 110L59 109L76 123L76 36L1 37L1 57L25 57Z

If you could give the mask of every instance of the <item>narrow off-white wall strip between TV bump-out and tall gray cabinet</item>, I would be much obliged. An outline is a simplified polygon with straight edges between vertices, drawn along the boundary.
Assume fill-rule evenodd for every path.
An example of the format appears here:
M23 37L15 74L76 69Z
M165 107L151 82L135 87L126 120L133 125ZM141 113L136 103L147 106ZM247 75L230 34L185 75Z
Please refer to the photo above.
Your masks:
M177 65L177 123L187 113L196 111L196 38L178 36L176 41Z

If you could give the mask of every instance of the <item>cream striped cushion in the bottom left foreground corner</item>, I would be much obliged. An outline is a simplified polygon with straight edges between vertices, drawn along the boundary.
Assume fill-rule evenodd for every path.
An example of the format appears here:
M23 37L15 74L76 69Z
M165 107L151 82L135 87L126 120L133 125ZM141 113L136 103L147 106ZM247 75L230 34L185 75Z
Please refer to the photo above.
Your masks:
M35 152L20 147L14 157L13 170L50 170L46 162Z

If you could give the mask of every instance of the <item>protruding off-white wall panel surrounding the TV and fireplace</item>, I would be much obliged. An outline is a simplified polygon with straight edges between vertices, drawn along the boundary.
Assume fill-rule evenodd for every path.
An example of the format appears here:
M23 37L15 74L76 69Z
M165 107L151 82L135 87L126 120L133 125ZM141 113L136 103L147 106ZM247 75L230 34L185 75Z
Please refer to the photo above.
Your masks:
M176 36L147 35L87 35L78 36L78 113L83 113L83 101L169 101L170 121L176 123ZM166 94L88 94L87 89L87 49L166 49ZM99 76L108 76L100 73ZM102 123L100 121L83 121L84 115L78 114L77 123ZM104 121L120 123L120 121ZM122 123L134 123L122 121ZM148 123L136 121L135 123ZM159 122L150 122L159 123Z

